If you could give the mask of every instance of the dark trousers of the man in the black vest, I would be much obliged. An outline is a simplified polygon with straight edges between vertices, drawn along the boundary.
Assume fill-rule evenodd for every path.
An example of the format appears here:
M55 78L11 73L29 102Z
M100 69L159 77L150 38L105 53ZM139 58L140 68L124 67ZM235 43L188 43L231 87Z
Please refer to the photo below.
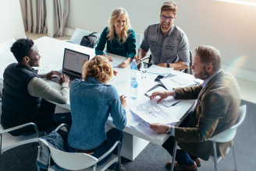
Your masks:
M71 127L72 117L71 113L54 113L55 104L49 103L44 99L41 102L41 110L38 111L33 119L34 124L37 125L39 131L45 131L46 133L52 132L60 124L67 124ZM23 128L21 136L29 136L36 134L34 127L28 126Z

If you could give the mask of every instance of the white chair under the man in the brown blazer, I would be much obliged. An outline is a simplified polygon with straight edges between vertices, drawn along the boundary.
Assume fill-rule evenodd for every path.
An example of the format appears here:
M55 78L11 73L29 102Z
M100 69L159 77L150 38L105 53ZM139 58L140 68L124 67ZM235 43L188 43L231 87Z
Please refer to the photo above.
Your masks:
M229 127L229 129L222 131L219 134L216 134L215 136L213 136L212 138L209 138L208 141L212 141L212 146L213 146L213 156L210 156L210 159L212 159L215 162L215 171L218 171L218 162L220 159L222 159L222 156L219 155L217 156L217 150L216 150L216 142L219 143L224 143L224 142L228 142L233 140L233 138L235 138L236 135L236 129L238 126L240 126L240 124L242 124L242 122L244 121L244 117L246 115L246 105L244 106L240 106L239 109L239 116L236 120L236 124L233 125L232 127ZM176 149L177 149L177 144L178 142L175 142L174 148L173 148L173 155L172 155L172 166L171 166L171 171L174 168L174 162L175 162L175 157L176 157ZM226 151L226 154L229 152L229 148ZM235 161L235 167L237 170L237 165L236 165L236 155L235 155L235 148L233 145L233 156L234 156L234 161Z

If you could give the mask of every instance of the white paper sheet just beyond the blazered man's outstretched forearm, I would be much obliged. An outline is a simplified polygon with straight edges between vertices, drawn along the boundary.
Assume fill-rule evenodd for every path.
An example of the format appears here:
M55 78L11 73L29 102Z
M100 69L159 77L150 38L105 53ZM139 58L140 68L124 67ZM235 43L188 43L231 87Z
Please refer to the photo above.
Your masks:
M177 79L176 77L180 77L180 78ZM173 88L176 88L176 87L186 87L186 86L191 86L195 84L195 82L192 79L187 78L187 76L176 76L176 77L160 79L160 82L162 82L162 84L168 90L172 90Z

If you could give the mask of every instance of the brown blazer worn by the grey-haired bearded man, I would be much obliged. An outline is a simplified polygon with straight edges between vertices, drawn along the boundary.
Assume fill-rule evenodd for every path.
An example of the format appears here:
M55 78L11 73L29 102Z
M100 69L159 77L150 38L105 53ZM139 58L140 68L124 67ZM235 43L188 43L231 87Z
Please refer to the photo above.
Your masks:
M187 127L175 127L175 141L180 148L204 160L213 153L208 138L236 124L240 106L240 88L229 72L222 70L204 87L176 88L175 99L197 99ZM233 141L217 143L217 152L224 159Z

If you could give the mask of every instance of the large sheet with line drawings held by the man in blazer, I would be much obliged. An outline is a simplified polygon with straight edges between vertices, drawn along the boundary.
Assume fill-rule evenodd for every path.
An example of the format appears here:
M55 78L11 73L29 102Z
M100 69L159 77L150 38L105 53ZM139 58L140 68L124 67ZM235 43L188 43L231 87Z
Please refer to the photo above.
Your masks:
M145 103L133 104L128 106L133 113L148 123L164 123L169 124L179 121L176 117L172 117L170 108L156 103L158 99L148 99ZM176 110L180 112L180 110Z

